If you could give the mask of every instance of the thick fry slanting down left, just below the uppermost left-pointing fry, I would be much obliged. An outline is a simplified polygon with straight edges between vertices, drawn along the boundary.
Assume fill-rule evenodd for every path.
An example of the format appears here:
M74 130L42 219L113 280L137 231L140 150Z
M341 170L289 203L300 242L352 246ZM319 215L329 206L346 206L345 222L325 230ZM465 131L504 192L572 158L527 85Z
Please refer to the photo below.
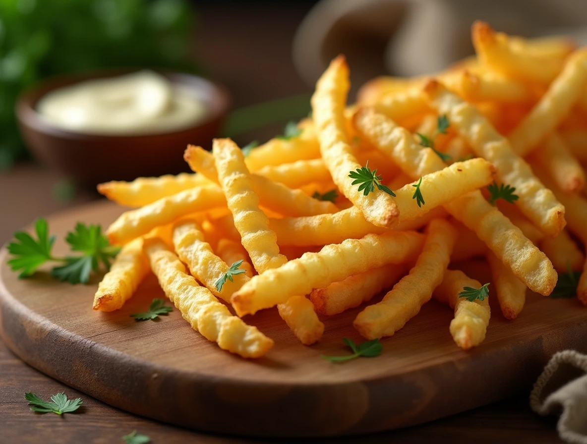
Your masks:
M106 235L112 245L121 245L149 233L157 226L172 223L181 216L225 205L226 199L217 185L186 189L122 213L109 226Z

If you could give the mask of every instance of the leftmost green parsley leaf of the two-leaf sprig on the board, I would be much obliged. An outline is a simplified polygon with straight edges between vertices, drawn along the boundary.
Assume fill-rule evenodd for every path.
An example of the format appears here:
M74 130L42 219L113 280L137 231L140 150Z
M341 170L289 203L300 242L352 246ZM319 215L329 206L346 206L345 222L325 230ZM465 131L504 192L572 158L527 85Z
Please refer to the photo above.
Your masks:
M13 271L21 272L19 277L31 276L43 263L55 260L51 256L55 236L49 237L46 219L39 218L35 221L35 232L36 240L29 233L17 231L14 233L16 242L8 244L8 252L15 256L8 261L8 265Z

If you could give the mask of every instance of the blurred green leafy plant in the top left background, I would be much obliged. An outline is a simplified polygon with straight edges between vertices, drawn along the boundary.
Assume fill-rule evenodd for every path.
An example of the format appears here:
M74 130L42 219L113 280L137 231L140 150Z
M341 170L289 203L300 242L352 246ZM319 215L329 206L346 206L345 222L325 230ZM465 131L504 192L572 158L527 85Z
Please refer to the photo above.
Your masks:
M25 148L14 106L46 77L109 67L194 72L187 0L0 0L0 170Z

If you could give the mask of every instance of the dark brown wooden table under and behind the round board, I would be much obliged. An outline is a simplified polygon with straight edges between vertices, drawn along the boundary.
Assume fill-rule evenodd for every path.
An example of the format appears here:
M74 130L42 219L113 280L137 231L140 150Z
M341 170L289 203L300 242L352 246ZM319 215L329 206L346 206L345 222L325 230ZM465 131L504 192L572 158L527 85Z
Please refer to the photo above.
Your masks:
M237 4L234 8L238 8ZM241 6L230 11L226 6L200 8L195 50L201 62L210 68L211 75L230 87L235 106L309 91L296 75L290 57L292 35L304 13L305 8L301 6L286 10L276 6L262 9ZM11 172L0 175L0 244L37 216L97 197L91 191L78 190L72 200L58 201L54 191L62 179L59 174L33 164L17 165ZM284 440L207 435L128 414L28 367L1 341L0 375L0 443L3 444L116 443L122 442L120 437L134 429L151 436L154 444L284 443ZM23 397L27 391L43 397L59 391L80 396L84 408L79 414L62 417L33 414ZM533 414L525 394L410 429L319 442L554 443L559 442L555 424L555 418Z

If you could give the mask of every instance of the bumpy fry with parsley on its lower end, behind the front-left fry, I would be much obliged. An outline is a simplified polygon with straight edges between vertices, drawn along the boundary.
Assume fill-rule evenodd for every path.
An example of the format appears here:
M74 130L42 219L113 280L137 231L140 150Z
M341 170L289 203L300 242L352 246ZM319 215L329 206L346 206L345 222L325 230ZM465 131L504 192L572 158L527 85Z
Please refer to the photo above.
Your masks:
M181 259L192 276L203 284L210 293L230 302L232 293L236 292L248 281L245 274L235 274L232 281L227 279L220 291L216 282L232 265L225 263L212 252L210 244L205 242L204 233L195 221L181 221L173 229L173 246L177 257Z

